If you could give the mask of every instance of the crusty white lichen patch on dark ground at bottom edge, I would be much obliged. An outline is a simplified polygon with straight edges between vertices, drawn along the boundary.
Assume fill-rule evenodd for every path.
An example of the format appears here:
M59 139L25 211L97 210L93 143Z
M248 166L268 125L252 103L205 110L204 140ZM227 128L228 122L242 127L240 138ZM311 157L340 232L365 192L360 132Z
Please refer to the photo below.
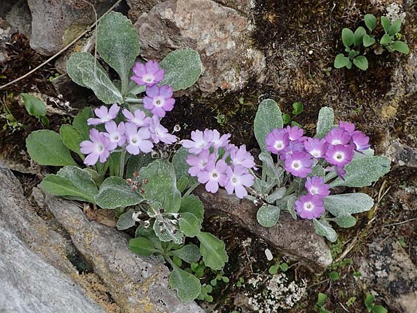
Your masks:
M247 292L246 296L253 310L259 313L277 312L277 307L290 309L306 294L306 282L289 282L285 273L266 280L265 276L259 275L251 278L248 284L258 291L256 294Z

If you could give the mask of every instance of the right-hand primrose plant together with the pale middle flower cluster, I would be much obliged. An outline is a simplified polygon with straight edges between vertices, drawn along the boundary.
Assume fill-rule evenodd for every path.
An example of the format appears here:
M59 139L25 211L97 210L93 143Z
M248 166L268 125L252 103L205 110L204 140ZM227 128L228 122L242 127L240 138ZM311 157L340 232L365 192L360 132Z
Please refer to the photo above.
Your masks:
M356 224L352 214L371 209L373 199L365 193L331 194L332 189L369 186L389 172L390 161L374 156L369 137L352 123L334 125L330 108L320 110L313 138L304 136L297 126L283 125L277 103L272 99L261 102L254 120L262 151L260 175L254 172L254 157L245 145L229 143L230 134L193 131L191 141L182 141L190 154L188 173L206 184L206 191L215 193L222 186L229 194L252 200L259 206L257 219L265 227L276 225L280 212L287 211L294 219L313 220L317 234L336 241L329 222L352 227Z

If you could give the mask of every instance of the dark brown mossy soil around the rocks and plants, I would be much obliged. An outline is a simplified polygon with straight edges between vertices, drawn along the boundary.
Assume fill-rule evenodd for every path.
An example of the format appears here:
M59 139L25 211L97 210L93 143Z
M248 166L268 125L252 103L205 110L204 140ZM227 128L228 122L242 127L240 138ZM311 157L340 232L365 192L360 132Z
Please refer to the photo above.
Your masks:
M335 4L336 3L336 4ZM165 125L172 129L180 125L179 136L186 138L193 129L217 128L222 132L233 134L234 143L256 147L252 134L252 123L256 107L260 100L272 98L277 101L283 113L291 113L293 102L302 102L304 112L295 117L307 133L315 129L318 111L322 106L330 106L335 111L337 120L348 120L357 125L371 138L371 144L377 154L384 154L387 145L399 139L409 147L417 147L417 93L404 92L407 88L406 77L416 69L407 68L407 56L387 54L367 55L369 68L366 72L358 69L332 69L329 76L325 69L332 66L334 56L342 49L341 29L355 29L363 25L363 15L373 13L384 15L384 1L366 0L257 0L253 13L256 31L253 42L266 56L266 78L261 86L251 82L245 90L230 95L218 93L211 99L199 101L190 97L180 97L174 110L167 114ZM411 53L417 53L417 5L402 1L407 12L402 35L408 43ZM377 29L376 32L381 32ZM13 35L11 45L7 46L13 57L7 65L0 64L0 83L11 81L25 74L31 68L42 63L46 58L35 53L24 36ZM400 74L398 74L400 72ZM0 153L9 159L19 159L30 165L25 152L25 138L42 125L35 118L28 116L17 102L21 92L36 91L51 97L58 97L49 77L54 76L54 63L49 63L31 77L16 83L7 90L0 90ZM411 73L411 74L410 74ZM398 87L398 88L397 88ZM401 88L403 88L401 90ZM243 99L242 99L243 98ZM10 120L5 114L11 113L19 126L8 126ZM223 115L223 116L222 116ZM49 129L57 130L70 116L49 116ZM6 125L5 129L1 127ZM28 189L38 182L35 178L19 175L24 179ZM25 180L26 179L26 180ZM338 229L339 240L329 244L336 261L325 273L311 273L304 266L297 264L277 251L272 251L275 259L268 262L265 257L265 243L254 238L250 233L240 230L236 225L222 219L206 221L204 227L219 236L227 245L229 263L224 268L224 275L230 280L228 284L219 282L212 292L214 303L202 302L208 312L241 312L238 299L243 293L254 291L247 284L250 278L269 275L268 269L275 262L287 262L290 266L286 275L295 282L306 282L306 294L291 310L271 312L316 312L318 292L329 296L325 307L330 312L365 312L363 298L370 291L354 276L359 266L359 259L368 253L367 243L374 239L393 237L404 243L405 250L414 265L417 265L417 209L413 208L416 198L407 192L407 188L417 186L417 169L400 167L393 164L391 172L379 182L361 191L377 200L377 205L364 214L357 214L357 225L342 230ZM357 190L359 191L359 190ZM404 205L405 204L405 205ZM402 221L409 222L391 225ZM251 244L244 242L250 238ZM343 253L343 252L347 253ZM329 273L336 271L341 278L329 280ZM85 274L89 275L89 274ZM210 284L214 273L206 271L204 282ZM238 287L239 278L243 286ZM356 300L348 303L349 299ZM377 298L377 304L388 307L389 312L399 312L389 307L389 300L384 296ZM110 312L118 312L110 310Z

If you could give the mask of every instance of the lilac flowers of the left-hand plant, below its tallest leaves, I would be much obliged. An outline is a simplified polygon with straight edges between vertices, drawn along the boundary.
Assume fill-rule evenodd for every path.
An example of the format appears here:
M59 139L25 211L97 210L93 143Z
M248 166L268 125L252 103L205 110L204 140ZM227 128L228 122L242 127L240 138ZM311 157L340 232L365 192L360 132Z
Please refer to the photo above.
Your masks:
M170 134L161 125L165 111L171 111L175 102L170 86L156 85L163 80L165 71L160 69L155 61L148 61L145 65L136 63L133 73L133 81L147 86L143 106L152 112L152 117L146 116L145 112L139 109L133 113L123 109L124 122L117 124L115 118L120 112L120 106L113 104L110 109L106 106L95 109L96 118L89 118L87 124L104 124L106 132L90 129L90 141L80 144L81 152L88 154L84 160L86 165L93 166L97 161L104 163L117 147L136 155L140 152L151 152L159 142L172 144L177 141L177 136Z

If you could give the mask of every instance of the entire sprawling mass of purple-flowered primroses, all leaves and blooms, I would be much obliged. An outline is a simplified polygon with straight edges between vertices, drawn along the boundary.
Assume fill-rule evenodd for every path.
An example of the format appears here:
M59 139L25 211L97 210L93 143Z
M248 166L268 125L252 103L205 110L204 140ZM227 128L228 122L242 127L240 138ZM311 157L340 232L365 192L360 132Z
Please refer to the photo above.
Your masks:
M372 207L364 193L334 195L332 189L370 185L389 171L389 161L373 156L369 138L352 124L334 126L332 109L320 110L317 134L308 138L298 127L282 129L281 111L273 100L261 102L254 120L262 151L260 175L254 157L245 145L231 144L230 134L196 130L190 140L179 141L161 120L174 108L173 92L197 81L199 55L186 49L171 52L161 63L141 63L136 61L138 41L129 19L120 13L105 15L97 27L97 52L120 80L112 81L89 53L73 54L67 71L109 106L100 106L95 114L83 109L59 134L34 131L26 147L33 161L62 167L43 179L45 191L115 209L119 230L138 225L129 248L170 264L170 287L181 300L204 298L206 292L193 268L182 262L204 262L220 270L228 261L224 243L201 231L204 207L191 194L199 184L211 193L224 187L253 201L265 227L278 222L280 211L288 211L293 218L312 219L316 232L330 241L336 240L336 232L329 222L350 227L356 223L351 214ZM175 152L179 142L182 147Z

